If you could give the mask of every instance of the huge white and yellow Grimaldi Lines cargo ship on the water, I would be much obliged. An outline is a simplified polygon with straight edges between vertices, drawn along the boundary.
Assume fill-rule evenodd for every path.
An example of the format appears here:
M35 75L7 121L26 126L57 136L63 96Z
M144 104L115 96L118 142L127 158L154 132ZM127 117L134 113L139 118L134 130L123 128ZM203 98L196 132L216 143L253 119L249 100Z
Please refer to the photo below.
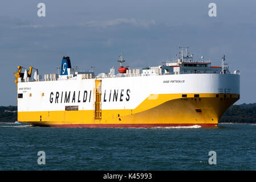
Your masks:
M173 61L154 67L123 66L119 55L107 73L79 71L63 57L58 73L39 75L38 69L18 66L18 122L50 127L213 127L239 100L238 70L229 71L194 60L180 47ZM32 71L34 77L32 77Z

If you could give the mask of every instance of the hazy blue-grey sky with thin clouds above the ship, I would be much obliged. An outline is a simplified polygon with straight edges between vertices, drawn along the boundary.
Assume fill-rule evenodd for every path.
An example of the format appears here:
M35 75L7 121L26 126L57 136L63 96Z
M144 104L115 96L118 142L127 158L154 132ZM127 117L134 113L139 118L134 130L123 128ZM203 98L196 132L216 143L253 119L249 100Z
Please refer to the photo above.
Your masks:
M39 17L38 3L46 5ZM209 3L217 16L210 17ZM17 105L17 66L33 66L39 74L57 73L62 57L72 67L107 73L125 65L142 68L173 60L179 46L200 59L241 72L241 98L256 102L256 1L207 0L1 0L0 105ZM117 70L116 70L117 72Z

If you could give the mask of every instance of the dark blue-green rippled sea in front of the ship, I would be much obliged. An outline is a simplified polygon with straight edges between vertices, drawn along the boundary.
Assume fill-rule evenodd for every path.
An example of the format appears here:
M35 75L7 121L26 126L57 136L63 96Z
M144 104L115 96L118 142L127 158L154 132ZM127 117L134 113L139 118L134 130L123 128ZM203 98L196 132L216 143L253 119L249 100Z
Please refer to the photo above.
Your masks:
M38 164L44 151L46 164ZM210 151L217 164L210 165ZM0 123L0 170L256 170L256 125L51 128Z

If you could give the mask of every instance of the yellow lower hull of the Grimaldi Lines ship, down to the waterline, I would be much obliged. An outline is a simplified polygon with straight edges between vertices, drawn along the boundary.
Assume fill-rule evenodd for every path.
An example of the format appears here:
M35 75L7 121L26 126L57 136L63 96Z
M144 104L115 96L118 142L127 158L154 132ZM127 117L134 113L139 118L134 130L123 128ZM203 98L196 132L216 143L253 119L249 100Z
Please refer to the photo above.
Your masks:
M135 109L101 110L100 117L95 117L95 110L19 111L18 121L52 127L212 127L239 99L239 94L231 93L186 95L152 94Z

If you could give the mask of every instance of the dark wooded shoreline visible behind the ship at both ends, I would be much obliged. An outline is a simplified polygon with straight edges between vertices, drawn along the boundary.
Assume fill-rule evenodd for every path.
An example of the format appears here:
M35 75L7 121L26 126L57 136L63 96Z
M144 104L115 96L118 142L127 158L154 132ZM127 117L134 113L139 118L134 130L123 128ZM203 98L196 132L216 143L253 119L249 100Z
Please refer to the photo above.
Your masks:
M0 106L0 122L17 121L17 106ZM222 123L256 123L256 103L231 106L220 122Z

